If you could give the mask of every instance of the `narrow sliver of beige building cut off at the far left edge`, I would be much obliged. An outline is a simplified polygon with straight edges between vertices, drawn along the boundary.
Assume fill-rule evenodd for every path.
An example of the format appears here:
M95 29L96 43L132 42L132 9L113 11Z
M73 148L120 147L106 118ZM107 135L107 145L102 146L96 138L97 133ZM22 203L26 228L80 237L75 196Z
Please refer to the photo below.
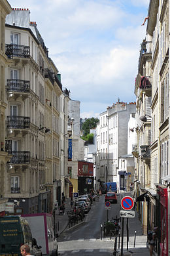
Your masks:
M12 11L9 3L6 0L1 1L1 48L0 48L0 61L1 61L1 81L0 81L0 214L5 215L5 179L7 175L7 161L10 160L10 154L5 151L5 111L7 108L7 100L5 98L5 68L8 66L8 58L5 54L5 18L7 14Z

